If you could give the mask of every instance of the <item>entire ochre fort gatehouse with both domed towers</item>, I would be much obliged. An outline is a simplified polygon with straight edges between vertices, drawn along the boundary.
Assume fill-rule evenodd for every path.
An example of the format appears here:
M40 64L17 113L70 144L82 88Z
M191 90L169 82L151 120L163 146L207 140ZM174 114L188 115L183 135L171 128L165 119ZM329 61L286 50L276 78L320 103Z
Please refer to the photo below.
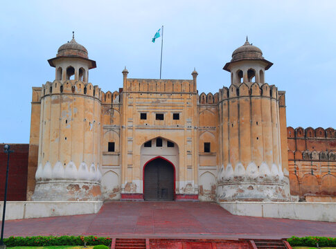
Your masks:
M103 92L87 50L62 45L48 60L55 80L33 88L28 199L288 200L285 92L265 83L262 55L248 41L235 50L231 85L215 94L198 94L196 71L130 79L126 68L123 87Z

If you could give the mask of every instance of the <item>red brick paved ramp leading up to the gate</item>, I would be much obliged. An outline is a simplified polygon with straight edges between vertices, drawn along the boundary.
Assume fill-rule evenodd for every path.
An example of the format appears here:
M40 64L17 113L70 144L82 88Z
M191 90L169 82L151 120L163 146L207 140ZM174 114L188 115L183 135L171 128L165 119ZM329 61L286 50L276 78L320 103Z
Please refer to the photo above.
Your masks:
M336 223L235 216L215 203L105 203L98 214L6 221L5 237L88 235L118 238L280 239L336 237Z

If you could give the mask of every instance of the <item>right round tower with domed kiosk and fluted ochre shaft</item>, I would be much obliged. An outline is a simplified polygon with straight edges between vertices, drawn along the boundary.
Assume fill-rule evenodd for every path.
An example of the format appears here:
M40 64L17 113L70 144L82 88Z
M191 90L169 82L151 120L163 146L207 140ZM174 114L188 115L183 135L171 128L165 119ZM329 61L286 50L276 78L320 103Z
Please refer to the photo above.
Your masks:
M222 166L219 201L284 201L278 90L265 83L272 62L246 42L224 70L231 86L220 90Z

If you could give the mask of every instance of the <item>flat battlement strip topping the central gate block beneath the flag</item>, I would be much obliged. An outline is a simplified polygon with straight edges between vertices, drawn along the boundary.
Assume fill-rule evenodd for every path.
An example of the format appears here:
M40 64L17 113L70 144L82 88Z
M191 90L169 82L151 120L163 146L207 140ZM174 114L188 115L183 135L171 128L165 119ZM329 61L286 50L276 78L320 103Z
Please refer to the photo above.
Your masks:
M193 80L127 79L126 92L197 93Z

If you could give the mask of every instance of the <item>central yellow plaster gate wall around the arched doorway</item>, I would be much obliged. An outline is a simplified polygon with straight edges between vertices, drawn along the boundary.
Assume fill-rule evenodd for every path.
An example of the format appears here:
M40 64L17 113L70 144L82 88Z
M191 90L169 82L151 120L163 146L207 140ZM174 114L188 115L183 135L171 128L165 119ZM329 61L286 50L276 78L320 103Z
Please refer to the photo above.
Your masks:
M155 156L166 155L152 147L152 155L146 155L143 143L155 138L174 142L178 152L172 159L176 172L176 194L198 194L198 124L196 78L194 80L143 80L127 79L123 71L121 111L121 192L142 194L143 165ZM141 113L146 113L141 120ZM157 120L156 114L163 114ZM173 114L179 119L174 120ZM144 154L141 154L143 151ZM168 159L169 160L169 159Z

